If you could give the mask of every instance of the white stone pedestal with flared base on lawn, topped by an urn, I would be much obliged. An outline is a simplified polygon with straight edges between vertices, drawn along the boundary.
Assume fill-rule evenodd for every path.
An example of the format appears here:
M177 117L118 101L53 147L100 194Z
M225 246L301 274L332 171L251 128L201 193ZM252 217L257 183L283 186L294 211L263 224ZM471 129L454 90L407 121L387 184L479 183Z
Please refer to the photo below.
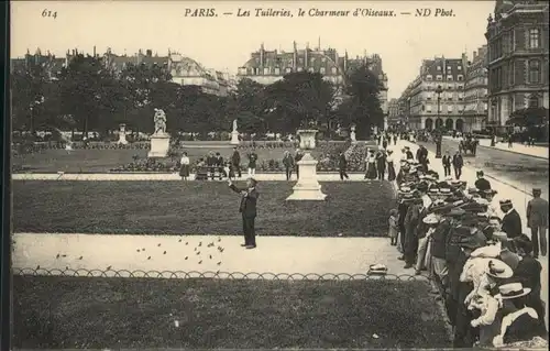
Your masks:
M317 180L317 161L308 152L315 149L315 135L317 130L299 130L300 149L306 150L306 154L298 162L300 178L293 188L293 194L286 198L292 200L314 200L322 201L327 195L322 194L321 185Z

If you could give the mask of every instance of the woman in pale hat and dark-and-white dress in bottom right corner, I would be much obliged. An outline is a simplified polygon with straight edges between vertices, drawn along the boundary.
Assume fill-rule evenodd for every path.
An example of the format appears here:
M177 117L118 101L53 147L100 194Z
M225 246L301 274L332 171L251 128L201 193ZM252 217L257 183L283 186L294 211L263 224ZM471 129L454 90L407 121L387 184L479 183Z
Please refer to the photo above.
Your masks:
M521 283L509 283L498 287L499 294L495 299L502 301L497 319L499 333L494 337L493 345L501 348L517 342L529 342L535 338L547 338L544 328L541 328L537 311L526 306L525 297L531 292ZM501 318L498 318L501 317Z

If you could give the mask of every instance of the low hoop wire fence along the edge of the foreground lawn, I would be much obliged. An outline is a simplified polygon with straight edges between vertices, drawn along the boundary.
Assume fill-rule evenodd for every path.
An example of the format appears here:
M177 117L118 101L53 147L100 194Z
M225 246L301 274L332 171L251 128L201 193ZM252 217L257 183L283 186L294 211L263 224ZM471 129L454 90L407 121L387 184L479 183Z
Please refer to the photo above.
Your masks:
M65 276L65 277L131 277L131 278L223 278L223 279L270 279L270 281L369 281L369 279L389 279L389 281L422 281L428 282L426 275L408 274L369 274L369 273L272 273L272 272L221 272L221 271L128 271L128 270L58 270L58 268L12 268L13 275L20 276Z

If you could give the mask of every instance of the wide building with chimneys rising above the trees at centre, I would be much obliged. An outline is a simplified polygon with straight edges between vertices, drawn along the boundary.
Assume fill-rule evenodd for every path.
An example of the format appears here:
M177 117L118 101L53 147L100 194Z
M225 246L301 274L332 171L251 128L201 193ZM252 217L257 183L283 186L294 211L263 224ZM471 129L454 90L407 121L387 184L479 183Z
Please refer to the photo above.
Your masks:
M253 52L250 59L238 70L238 78L249 78L263 85L273 84L286 74L293 72L319 73L323 79L333 83L337 86L344 84L345 73L369 61L371 69L377 75L383 89L381 89L380 100L382 110L387 117L387 76L382 67L380 55L349 58L348 53L343 56L334 48L321 48L320 44L316 48L306 45L305 48L298 48L294 42L294 48L290 52L268 51L262 44L260 50Z

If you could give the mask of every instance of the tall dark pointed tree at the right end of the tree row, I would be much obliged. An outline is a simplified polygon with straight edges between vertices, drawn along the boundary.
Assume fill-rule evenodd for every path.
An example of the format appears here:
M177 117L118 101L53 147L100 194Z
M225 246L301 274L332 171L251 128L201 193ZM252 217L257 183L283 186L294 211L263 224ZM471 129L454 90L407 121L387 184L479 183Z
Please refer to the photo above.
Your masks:
M353 69L345 77L345 92L349 95L348 103L351 106L344 108L351 113L350 124L358 125L358 134L361 136L369 136L371 127L382 127L384 123L384 112L378 99L382 88L369 63Z

